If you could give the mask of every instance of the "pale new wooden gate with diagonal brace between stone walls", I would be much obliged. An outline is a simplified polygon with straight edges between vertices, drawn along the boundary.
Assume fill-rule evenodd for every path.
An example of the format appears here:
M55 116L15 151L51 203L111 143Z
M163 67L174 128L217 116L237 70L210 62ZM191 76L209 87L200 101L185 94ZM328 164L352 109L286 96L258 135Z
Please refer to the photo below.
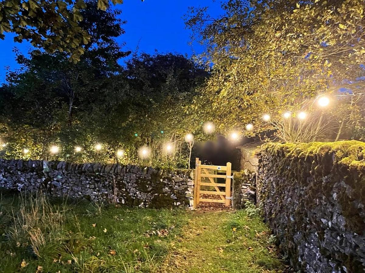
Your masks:
M195 158L194 206L199 202L215 202L224 203L228 207L231 199L231 179L233 178L231 172L230 162L226 166L201 165L199 158ZM218 181L222 178L224 183ZM200 198L200 194L214 194L219 195L220 198Z

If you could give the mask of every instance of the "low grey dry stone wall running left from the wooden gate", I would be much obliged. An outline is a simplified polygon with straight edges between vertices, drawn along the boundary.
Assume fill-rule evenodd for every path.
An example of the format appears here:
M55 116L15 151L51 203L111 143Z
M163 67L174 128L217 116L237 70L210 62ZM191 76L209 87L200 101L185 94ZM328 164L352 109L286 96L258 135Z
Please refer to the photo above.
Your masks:
M191 170L135 165L0 159L0 188L141 207L193 205Z

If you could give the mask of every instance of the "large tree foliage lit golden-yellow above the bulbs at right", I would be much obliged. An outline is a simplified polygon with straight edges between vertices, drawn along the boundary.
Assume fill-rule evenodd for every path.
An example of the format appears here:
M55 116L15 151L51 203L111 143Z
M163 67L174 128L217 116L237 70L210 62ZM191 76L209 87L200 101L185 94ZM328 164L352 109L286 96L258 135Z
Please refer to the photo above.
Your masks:
M254 124L247 135L267 131L273 124L262 120L265 113L276 122L285 111L296 118L299 111L318 112L319 95L362 90L363 1L231 0L222 7L226 13L217 19L203 8L185 20L206 48L203 59L214 64L196 108L205 109L220 131L245 131L247 123ZM333 123L339 124L336 111L346 101L335 98L327 119L314 114L308 128L323 127L325 134L339 129Z

